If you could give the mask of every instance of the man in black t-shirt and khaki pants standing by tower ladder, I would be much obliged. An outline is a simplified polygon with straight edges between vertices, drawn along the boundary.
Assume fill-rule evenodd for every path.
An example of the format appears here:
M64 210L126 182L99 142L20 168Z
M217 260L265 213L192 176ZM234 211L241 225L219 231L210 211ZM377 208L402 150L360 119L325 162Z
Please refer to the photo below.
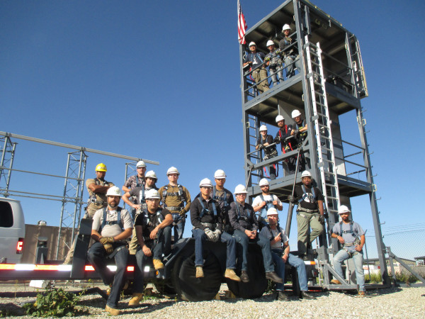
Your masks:
M322 191L312 186L312 174L304 171L301 174L302 185L295 187L295 196L288 196L291 203L298 203L298 254L308 260L307 246L324 231L324 197ZM309 229L312 232L309 234Z

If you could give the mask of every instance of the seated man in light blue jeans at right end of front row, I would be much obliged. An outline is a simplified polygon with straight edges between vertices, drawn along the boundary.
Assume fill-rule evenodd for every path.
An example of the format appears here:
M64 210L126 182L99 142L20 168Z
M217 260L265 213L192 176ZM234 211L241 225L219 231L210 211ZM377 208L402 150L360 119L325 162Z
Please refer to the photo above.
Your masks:
M268 208L267 218L268 225L261 230L260 236L265 237L270 241L271 257L273 257L273 262L276 265L276 272L280 278L285 279L285 264L288 262L288 264L297 269L301 298L314 299L314 297L308 293L307 272L305 271L304 262L302 259L289 253L289 240L285 234L285 230L279 226L278 211L276 211L276 208ZM276 291L276 298L278 300L290 300L284 293L285 286L283 284L276 284Z

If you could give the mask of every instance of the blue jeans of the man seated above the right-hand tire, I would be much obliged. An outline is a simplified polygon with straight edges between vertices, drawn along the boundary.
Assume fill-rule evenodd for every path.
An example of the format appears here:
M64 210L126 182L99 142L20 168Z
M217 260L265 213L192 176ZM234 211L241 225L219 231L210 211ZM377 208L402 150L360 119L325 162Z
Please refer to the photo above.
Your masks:
M248 236L241 230L234 230L233 237L237 243L242 246L242 270L248 270L248 243L256 242L261 247L261 253L263 254L263 264L265 272L274 272L273 259L271 258L270 241L264 237L257 237L254 240L250 240ZM238 249L239 257L241 250Z

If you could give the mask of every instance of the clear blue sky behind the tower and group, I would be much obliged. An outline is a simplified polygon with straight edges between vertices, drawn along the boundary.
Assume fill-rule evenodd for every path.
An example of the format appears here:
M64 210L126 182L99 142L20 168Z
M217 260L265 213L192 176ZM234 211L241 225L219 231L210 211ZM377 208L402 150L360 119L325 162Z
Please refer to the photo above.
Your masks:
M361 44L382 230L424 229L417 166L424 156L425 4L313 3ZM280 4L242 0L248 27ZM148 167L158 186L176 166L193 197L200 179L219 168L228 189L244 183L236 0L1 1L0 43L0 130L158 161ZM347 140L351 133L358 135ZM64 174L69 150L14 141L14 168ZM108 166L106 179L123 184L125 160L89 154L86 177L98 162ZM408 188L412 180L417 186ZM63 181L13 172L11 189L61 195ZM60 203L21 201L26 223L59 225ZM373 233L368 198L352 205Z

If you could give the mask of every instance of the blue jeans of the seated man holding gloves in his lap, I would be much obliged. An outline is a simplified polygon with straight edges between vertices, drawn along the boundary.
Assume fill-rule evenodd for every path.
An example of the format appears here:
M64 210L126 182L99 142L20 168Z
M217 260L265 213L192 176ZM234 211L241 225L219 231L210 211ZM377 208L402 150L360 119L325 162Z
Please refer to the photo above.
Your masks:
M199 228L193 229L192 233L195 238L195 266L203 266L203 242L208 240L208 237ZM236 240L226 232L220 235L220 240L227 246L226 269L236 269Z

